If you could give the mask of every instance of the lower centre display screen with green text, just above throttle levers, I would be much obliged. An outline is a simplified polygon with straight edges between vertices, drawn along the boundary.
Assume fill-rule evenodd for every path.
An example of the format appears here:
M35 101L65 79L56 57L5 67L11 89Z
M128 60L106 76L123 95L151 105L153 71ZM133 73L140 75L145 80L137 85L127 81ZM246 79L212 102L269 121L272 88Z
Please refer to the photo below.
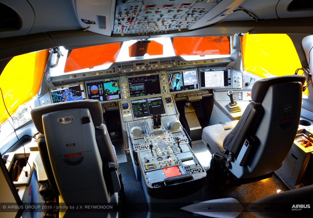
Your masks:
M132 100L134 118L165 114L162 97Z

